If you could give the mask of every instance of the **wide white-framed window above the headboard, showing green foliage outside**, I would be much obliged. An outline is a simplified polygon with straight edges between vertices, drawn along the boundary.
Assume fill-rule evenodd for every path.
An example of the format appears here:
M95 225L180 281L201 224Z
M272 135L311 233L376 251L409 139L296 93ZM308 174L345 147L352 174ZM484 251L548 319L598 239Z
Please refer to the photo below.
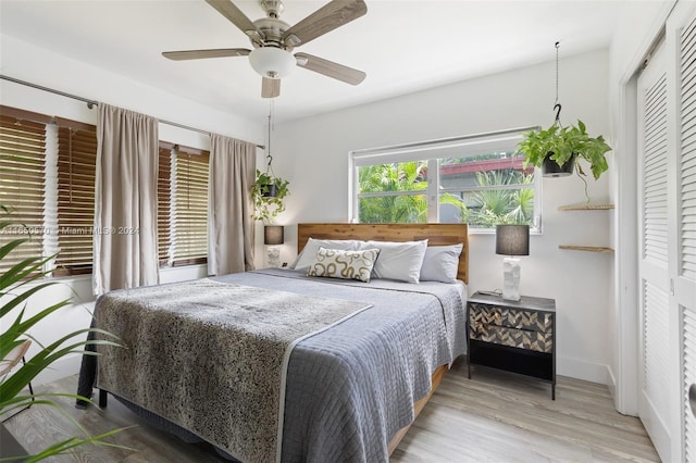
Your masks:
M538 228L540 179L532 166L522 166L521 135L500 132L352 152L352 220Z

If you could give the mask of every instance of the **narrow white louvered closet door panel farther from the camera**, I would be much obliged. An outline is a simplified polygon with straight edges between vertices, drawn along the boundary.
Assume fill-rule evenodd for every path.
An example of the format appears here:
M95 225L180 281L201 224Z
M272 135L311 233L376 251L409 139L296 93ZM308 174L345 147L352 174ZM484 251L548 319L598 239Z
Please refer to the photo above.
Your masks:
M664 47L638 78L641 358L638 413L670 455L668 75ZM672 375L673 376L673 375Z

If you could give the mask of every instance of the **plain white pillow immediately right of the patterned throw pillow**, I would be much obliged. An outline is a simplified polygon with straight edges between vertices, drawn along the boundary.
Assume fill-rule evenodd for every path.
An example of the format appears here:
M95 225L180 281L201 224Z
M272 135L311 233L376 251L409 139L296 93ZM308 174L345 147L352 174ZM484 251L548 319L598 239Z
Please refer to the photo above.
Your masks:
M425 256L427 240L422 241L368 241L366 248L380 250L372 274L375 278L397 279L406 283L418 283L421 277L421 265Z

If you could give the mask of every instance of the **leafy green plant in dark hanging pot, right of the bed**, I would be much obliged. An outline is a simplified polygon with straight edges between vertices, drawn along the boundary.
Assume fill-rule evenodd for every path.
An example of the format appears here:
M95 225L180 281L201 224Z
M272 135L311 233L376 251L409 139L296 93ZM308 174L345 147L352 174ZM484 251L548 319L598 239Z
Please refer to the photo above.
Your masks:
M545 130L530 130L524 134L518 148L524 153L523 166L532 164L542 167L544 176L561 177L572 174L575 168L580 178L585 182L586 174L580 164L581 159L589 163L595 179L609 168L606 153L611 147L601 135L591 137L580 120L577 125L562 127L555 122ZM585 190L586 186L585 182Z

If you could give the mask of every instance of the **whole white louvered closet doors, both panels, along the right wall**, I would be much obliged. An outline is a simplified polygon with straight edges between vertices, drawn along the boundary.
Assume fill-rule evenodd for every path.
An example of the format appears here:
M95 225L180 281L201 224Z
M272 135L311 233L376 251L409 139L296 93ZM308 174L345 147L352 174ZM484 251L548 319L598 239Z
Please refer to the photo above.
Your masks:
M638 413L663 461L696 463L696 2L638 77Z

